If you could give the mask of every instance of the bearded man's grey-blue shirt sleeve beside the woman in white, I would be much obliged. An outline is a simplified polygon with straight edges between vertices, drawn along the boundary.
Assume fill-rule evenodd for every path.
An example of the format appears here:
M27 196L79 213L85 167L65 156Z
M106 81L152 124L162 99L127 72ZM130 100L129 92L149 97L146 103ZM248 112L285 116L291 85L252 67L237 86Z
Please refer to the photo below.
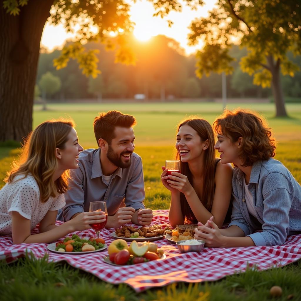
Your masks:
M83 172L79 161L79 168L70 169L70 189L65 193L66 205L60 216L61 220L67 222L76 213L84 212L85 193L83 191Z

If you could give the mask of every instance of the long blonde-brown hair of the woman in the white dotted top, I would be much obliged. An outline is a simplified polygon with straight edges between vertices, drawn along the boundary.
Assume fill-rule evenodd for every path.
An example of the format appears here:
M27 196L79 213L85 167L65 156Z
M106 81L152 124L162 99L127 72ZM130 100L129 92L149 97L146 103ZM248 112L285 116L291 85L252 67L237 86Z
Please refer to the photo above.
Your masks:
M68 190L69 170L66 170L55 182L52 177L58 163L56 147L65 148L68 135L74 127L72 119L45 121L31 132L21 151L20 159L13 162L5 182L12 182L17 175L26 177L29 173L35 178L40 190L40 201L65 193Z

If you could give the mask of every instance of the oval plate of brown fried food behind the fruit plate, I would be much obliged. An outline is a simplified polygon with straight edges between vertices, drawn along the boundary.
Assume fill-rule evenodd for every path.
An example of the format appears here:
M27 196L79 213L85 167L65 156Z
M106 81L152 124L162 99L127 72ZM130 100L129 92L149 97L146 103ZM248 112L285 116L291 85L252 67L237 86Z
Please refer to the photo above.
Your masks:
M123 226L115 228L111 233L114 238L122 238L126 241L154 241L163 238L165 235L161 225L136 228L133 226Z

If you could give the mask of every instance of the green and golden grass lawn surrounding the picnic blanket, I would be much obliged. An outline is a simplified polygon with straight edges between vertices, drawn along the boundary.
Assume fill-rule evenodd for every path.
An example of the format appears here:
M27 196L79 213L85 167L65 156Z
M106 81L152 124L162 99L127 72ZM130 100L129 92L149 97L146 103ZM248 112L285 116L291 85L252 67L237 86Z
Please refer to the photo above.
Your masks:
M246 104L232 104L232 107ZM287 105L291 118L273 118L272 104L253 104L250 108L263 113L277 140L276 159L284 163L301 183L301 104ZM160 183L161 165L173 158L175 126L185 115L201 114L210 123L219 115L221 104L53 104L49 111L34 109L34 125L48 118L64 116L65 112L77 123L79 139L85 148L95 147L92 121L99 111L112 109L132 113L138 120L135 151L142 157L145 179L145 205L153 209L167 209L170 195ZM187 109L188 108L188 109ZM299 139L298 139L299 138ZM14 157L15 147L0 147L0 179ZM0 188L4 185L0 182ZM221 281L205 284L173 284L136 294L126 285L111 285L67 263L51 263L44 259L19 259L12 264L0 262L0 300L134 300L134 301L205 301L205 300L273 300L269 289L273 285L283 288L277 300L301 300L301 261L283 268L258 272L250 268L243 274L228 276ZM28 289L30 287L30 290Z

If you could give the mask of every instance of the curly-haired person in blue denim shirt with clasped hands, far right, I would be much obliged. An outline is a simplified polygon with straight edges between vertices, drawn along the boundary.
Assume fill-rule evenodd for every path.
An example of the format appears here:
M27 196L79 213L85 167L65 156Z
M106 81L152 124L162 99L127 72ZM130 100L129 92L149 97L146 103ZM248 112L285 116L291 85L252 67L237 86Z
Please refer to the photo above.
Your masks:
M270 128L256 114L237 110L225 111L214 129L221 163L235 167L231 223L219 229L210 218L206 225L198 223L195 237L209 247L282 245L288 235L301 231L301 186L273 159Z

